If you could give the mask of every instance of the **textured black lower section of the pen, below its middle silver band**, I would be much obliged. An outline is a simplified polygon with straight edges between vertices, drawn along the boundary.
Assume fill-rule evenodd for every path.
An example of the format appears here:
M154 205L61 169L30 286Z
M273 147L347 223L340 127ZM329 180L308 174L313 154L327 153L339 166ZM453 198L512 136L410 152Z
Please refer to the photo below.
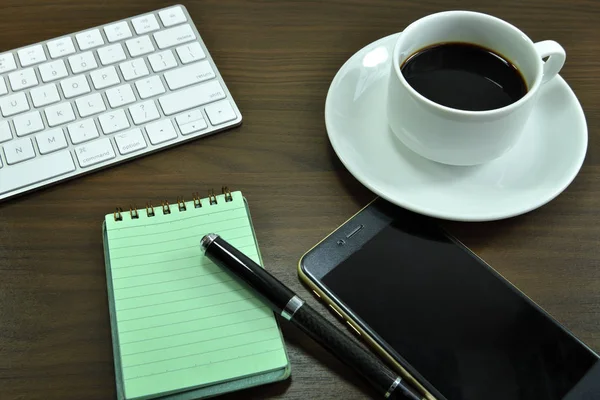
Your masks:
M398 374L383 364L372 353L354 342L348 335L336 328L309 305L300 307L291 321L314 341L325 347L359 375L366 378L388 399L408 398L421 400L419 395ZM400 379L400 381L398 381ZM404 395L404 396L402 396Z

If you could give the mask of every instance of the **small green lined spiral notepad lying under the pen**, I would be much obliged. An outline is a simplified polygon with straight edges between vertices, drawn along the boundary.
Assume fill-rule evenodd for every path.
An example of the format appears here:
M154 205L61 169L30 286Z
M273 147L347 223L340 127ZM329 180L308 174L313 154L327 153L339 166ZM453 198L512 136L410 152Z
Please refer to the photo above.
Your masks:
M261 263L241 192L216 201L105 218L115 364L125 399L274 371L280 379L289 375L273 312L201 252L200 239L214 232Z

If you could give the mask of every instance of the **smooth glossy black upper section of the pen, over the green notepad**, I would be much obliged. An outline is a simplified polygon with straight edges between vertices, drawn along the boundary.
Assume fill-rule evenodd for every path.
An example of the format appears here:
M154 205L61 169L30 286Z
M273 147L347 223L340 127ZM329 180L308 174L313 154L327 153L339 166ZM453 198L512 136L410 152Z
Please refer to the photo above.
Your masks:
M254 289L254 294L278 313L295 296L277 278L221 237L212 240L205 249L205 255L242 285Z

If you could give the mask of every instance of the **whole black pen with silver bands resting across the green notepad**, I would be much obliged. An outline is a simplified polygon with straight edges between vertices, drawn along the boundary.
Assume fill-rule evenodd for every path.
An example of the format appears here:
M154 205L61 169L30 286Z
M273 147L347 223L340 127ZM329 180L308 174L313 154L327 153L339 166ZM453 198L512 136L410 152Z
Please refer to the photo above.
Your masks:
M354 368L384 398L424 400L408 382L383 362L304 303L297 294L219 235L209 233L200 242L204 254L218 266L246 283L271 309Z

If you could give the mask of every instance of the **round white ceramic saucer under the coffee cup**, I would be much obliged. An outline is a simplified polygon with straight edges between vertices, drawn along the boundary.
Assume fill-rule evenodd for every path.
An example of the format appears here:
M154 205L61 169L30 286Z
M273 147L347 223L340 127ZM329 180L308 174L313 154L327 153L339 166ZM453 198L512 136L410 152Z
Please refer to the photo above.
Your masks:
M475 167L429 161L404 147L386 122L391 35L354 54L327 94L329 140L346 168L380 197L420 214L490 221L536 209L575 178L587 149L583 110L557 76L540 90L519 143Z

